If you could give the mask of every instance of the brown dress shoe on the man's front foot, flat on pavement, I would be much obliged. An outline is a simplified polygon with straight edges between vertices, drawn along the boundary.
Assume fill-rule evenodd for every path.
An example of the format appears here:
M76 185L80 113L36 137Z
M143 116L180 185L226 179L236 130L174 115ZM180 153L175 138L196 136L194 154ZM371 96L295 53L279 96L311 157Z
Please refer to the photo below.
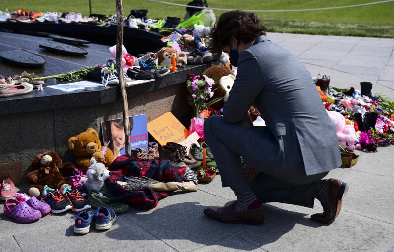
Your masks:
M260 225L264 223L263 207L260 206L259 208L252 210L236 212L236 203L237 201L234 201L229 206L204 209L204 214L215 221L225 223L246 223L252 225Z

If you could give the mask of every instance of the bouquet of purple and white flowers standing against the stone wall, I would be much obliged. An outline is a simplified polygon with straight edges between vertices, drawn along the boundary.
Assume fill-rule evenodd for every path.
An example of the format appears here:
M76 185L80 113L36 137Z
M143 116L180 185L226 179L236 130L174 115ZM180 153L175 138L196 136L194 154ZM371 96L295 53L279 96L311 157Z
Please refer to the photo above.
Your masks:
M200 113L203 110L208 109L209 106L212 106L223 99L220 97L210 100L215 91L212 90L213 84L215 84L214 80L206 75L200 76L189 74L187 81L187 88L191 94L191 97L189 97L189 103L194 108L195 117L200 118Z

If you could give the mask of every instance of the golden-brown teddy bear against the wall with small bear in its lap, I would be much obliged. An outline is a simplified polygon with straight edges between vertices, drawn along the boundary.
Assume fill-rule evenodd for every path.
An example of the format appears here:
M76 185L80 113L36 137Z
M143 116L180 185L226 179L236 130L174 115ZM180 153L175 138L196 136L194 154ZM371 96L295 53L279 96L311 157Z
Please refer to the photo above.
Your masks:
M96 161L104 163L107 169L114 161L114 154L109 148L106 148L105 154L101 153L103 146L101 146L99 134L92 128L76 137L69 138L68 148L77 158L75 166L83 171L89 168L92 157L95 157Z

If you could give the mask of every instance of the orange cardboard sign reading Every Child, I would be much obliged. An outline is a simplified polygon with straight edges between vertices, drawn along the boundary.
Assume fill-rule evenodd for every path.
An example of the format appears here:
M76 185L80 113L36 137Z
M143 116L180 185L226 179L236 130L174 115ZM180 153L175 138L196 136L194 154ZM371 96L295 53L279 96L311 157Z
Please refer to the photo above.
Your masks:
M183 142L189 135L189 131L171 112L149 122L148 131L162 146L167 142Z

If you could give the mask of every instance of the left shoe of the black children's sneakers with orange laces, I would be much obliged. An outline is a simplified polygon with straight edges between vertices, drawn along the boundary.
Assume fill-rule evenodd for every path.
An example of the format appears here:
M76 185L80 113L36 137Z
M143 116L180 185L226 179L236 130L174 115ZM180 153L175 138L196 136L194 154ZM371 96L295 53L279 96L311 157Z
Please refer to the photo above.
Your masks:
M71 203L68 202L62 191L52 189L47 185L42 191L42 200L45 200L51 207L51 212L54 214L63 213L72 208Z

